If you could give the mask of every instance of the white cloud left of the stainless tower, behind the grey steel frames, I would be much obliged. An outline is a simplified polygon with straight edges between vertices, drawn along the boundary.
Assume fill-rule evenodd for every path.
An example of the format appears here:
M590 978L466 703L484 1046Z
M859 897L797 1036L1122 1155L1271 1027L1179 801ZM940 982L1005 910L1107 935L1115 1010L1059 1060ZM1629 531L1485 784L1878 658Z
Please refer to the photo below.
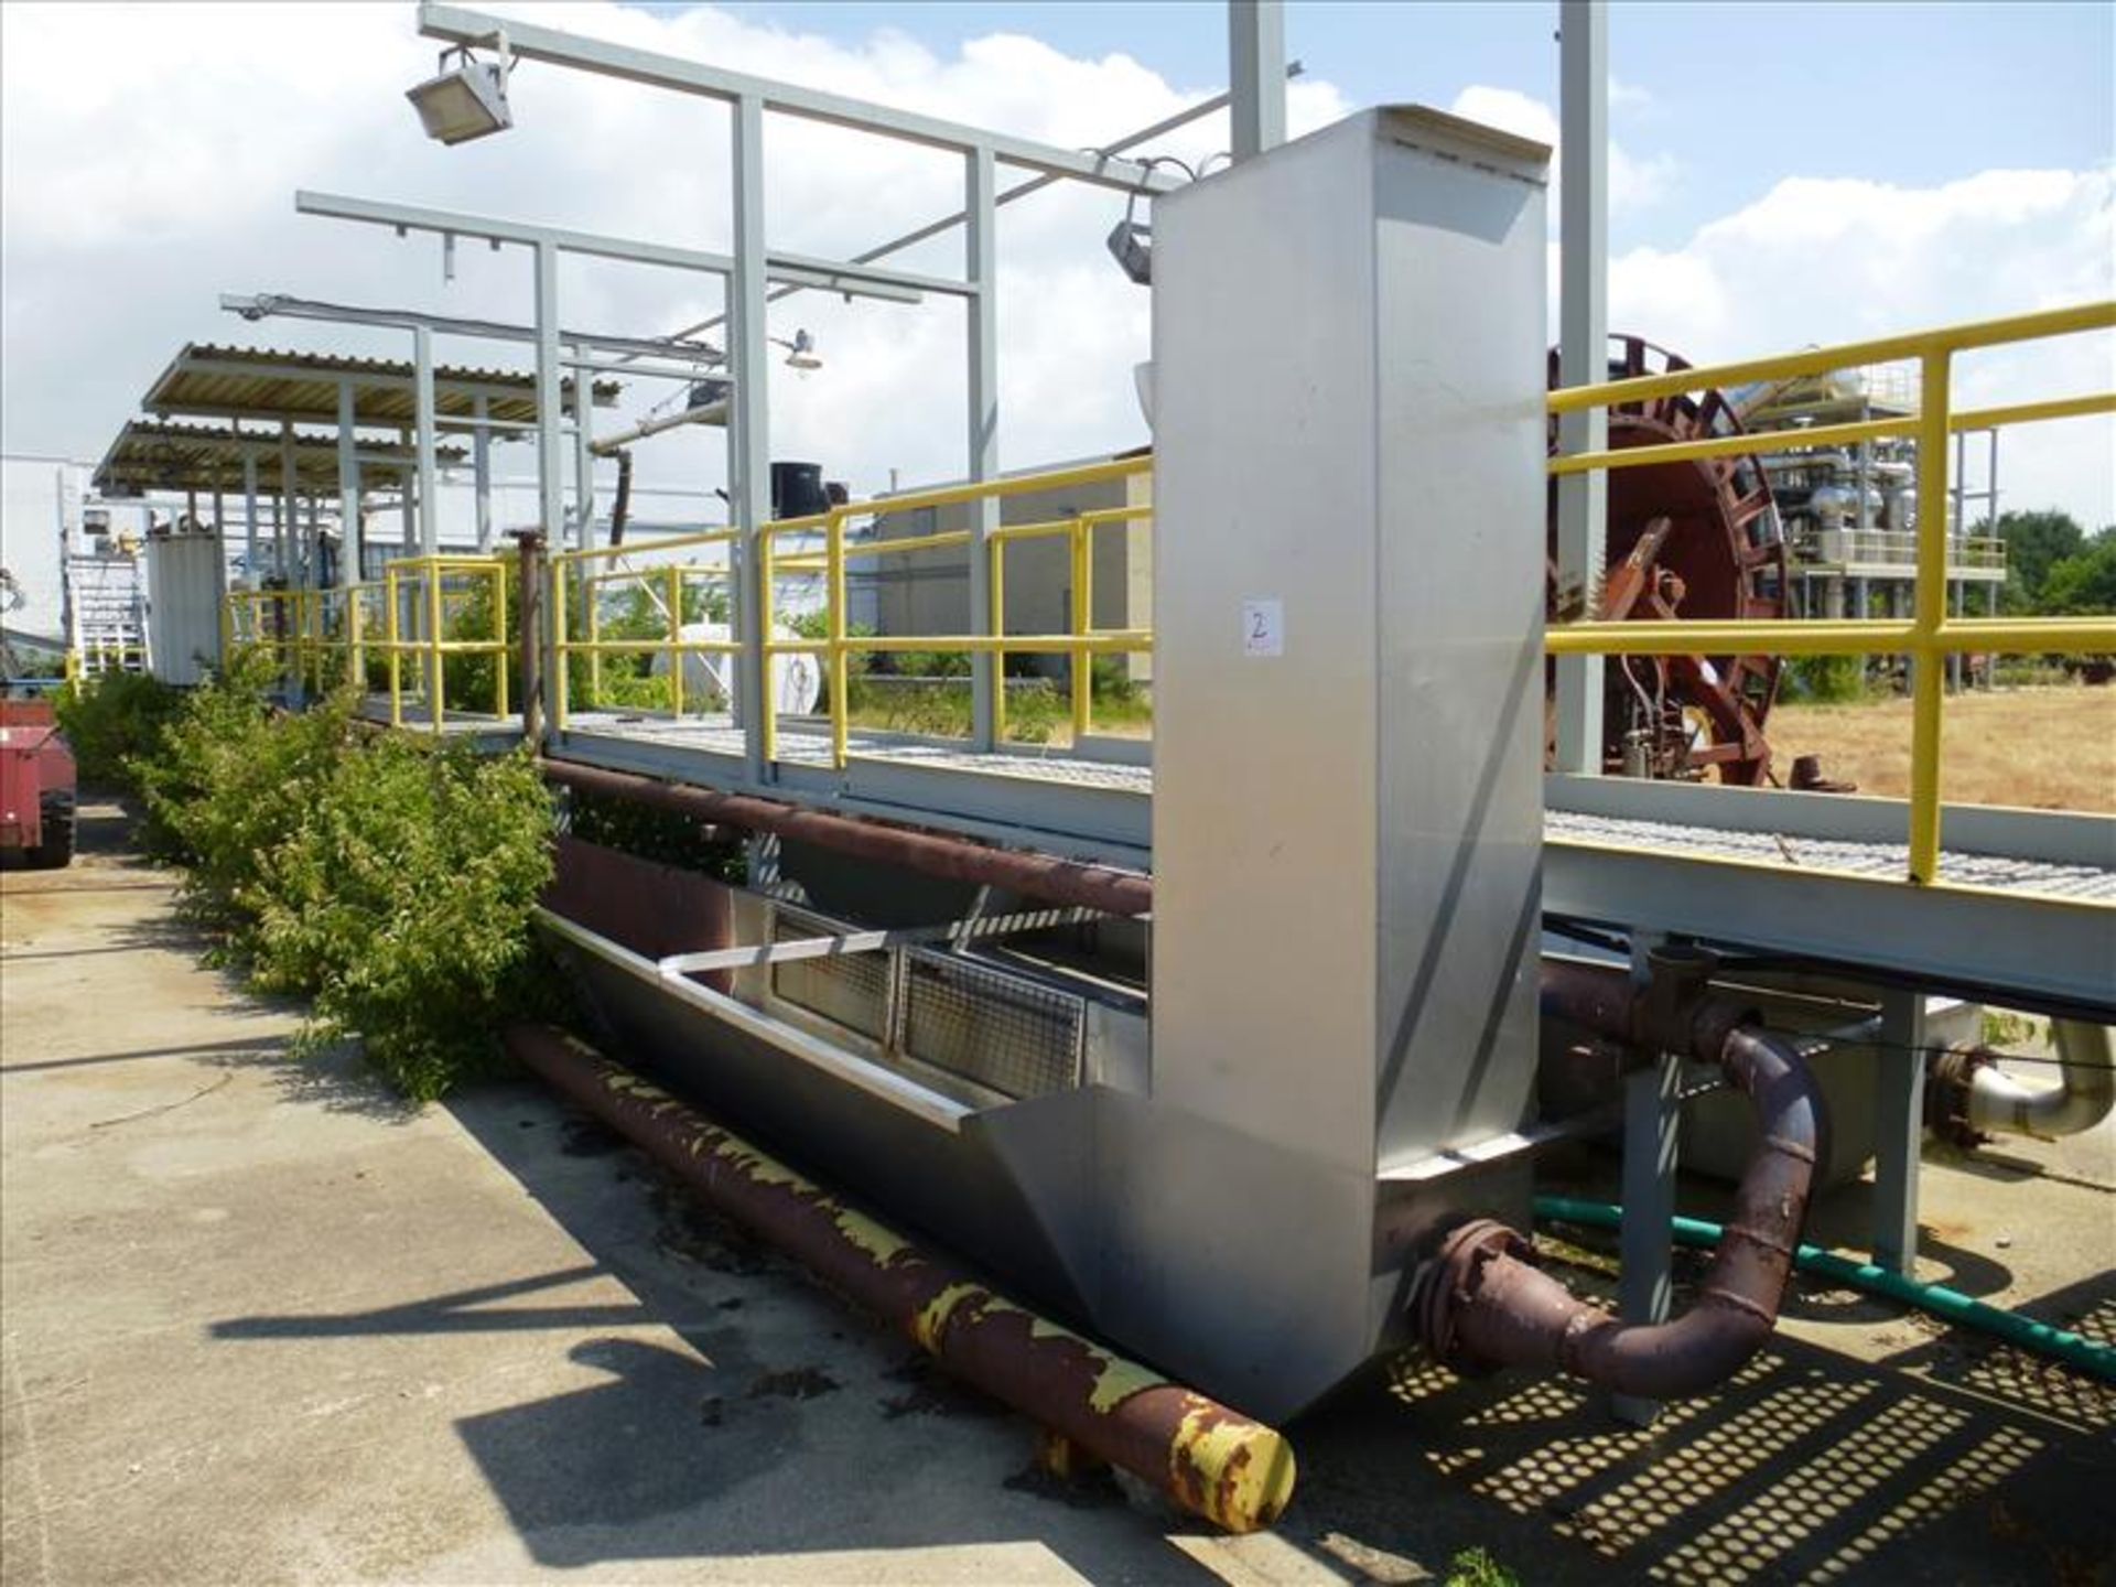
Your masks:
M1126 55L1073 59L1020 34L942 57L901 34L857 44L755 25L709 6L662 15L612 4L540 4L533 19L732 70L990 125L1058 146L1092 146L1179 110L1191 95ZM438 281L432 239L296 218L296 186L463 207L628 237L728 248L728 131L722 106L525 66L516 129L442 150L402 91L432 70L413 8L372 4L6 4L4 334L8 449L95 455L186 339L345 345L377 339L218 313L224 290L286 290L527 320L521 252L461 250ZM76 70L93 63L93 70ZM1295 83L1289 121L1306 131L1346 112L1318 78ZM1162 144L1198 163L1225 116ZM937 150L770 118L770 235L810 254L851 254L959 207L963 163ZM1003 167L1003 182L1020 171ZM1147 294L1102 254L1124 195L1060 184L1001 218L1003 461L1071 457L1143 438L1130 364L1147 349ZM952 271L961 233L906 254ZM713 279L567 262L569 326L647 334L719 309ZM1060 324L1062 322L1062 324ZM774 375L774 451L823 459L859 489L889 468L906 480L959 474L963 313L855 305L806 294L774 330L808 326L825 368ZM457 343L444 358L514 362L506 345ZM645 406L667 387L637 387ZM950 400L950 394L956 394ZM631 398L633 394L628 394ZM688 434L688 432L686 432ZM514 470L525 453L508 453ZM717 444L658 442L641 474L717 480Z

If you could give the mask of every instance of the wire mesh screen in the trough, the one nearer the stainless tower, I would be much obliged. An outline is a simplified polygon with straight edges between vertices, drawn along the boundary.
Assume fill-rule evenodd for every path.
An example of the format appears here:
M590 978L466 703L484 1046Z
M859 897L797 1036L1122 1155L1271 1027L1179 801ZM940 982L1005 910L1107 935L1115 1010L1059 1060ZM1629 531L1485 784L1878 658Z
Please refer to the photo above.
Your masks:
M1016 1098L1079 1086L1086 1005L946 954L904 954L899 1047Z

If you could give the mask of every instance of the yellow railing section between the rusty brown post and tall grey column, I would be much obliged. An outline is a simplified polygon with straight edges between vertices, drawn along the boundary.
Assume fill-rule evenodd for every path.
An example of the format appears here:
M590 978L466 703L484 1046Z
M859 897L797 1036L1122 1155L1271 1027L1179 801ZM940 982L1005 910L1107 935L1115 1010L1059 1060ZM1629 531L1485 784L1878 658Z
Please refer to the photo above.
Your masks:
M738 656L743 645L736 639L686 639L683 597L692 582L732 582L724 563L660 561L671 554L696 552L709 546L730 548L743 537L741 529L703 529L692 535L656 540L652 546L588 546L586 550L563 550L550 557L550 626L552 652L557 656L557 677L552 679L552 726L565 730L573 711L571 658L586 658L588 698L603 703L605 675L603 656L667 656L669 667L669 709L683 715L683 658L686 656ZM641 554L658 561L641 563ZM724 557L728 552L724 550ZM647 590L650 605L658 607L662 633L626 635L607 639L603 635L603 595L612 586ZM573 637L573 607L578 603L582 637ZM730 609L734 605L730 590Z

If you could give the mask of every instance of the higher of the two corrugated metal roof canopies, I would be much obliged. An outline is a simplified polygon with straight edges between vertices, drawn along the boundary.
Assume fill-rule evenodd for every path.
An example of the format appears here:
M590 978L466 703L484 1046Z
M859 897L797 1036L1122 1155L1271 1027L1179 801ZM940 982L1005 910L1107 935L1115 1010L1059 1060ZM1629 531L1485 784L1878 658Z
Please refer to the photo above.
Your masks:
M353 417L362 425L408 430L419 421L408 362L341 358L334 353L279 353L262 347L186 343L148 387L140 404L167 419L292 419L339 423L339 381L353 387ZM567 396L573 381L563 381ZM595 381L595 406L616 406L618 381ZM434 415L446 423L470 419L476 398L485 413L508 423L535 423L535 377L514 370L436 368Z

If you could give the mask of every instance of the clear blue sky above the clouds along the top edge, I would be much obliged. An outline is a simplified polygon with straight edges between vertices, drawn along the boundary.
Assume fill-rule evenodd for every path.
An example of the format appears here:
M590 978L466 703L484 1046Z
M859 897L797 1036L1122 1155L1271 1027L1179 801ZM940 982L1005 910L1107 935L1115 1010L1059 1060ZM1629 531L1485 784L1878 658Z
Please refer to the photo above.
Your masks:
M679 6L671 6L679 8ZM745 21L840 42L910 34L952 55L1024 32L1069 55L1126 53L1185 89L1225 83L1219 0L732 0ZM1445 106L1471 83L1557 102L1557 6L1293 0L1287 51L1358 104ZM1936 184L2116 157L2116 6L1615 4L1615 135L1678 169L1610 248L1678 243L1782 176ZM1773 110L1775 108L1775 110Z

